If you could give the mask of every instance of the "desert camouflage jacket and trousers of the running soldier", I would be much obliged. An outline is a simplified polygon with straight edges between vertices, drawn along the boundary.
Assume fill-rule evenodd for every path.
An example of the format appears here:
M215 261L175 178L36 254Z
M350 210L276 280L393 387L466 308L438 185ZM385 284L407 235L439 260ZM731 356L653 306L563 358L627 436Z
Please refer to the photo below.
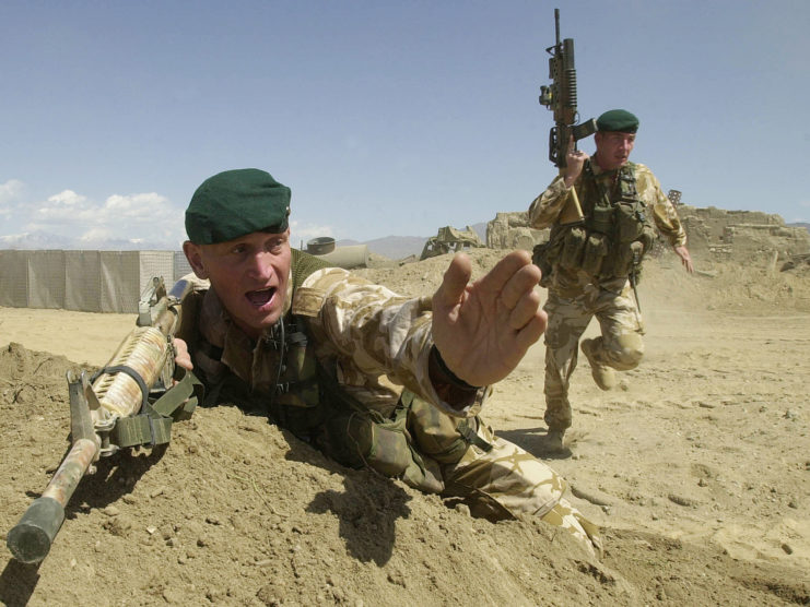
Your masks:
M611 180L615 171L602 171L591 157L597 180ZM582 192L586 171L579 175L574 188ZM646 203L656 227L672 247L685 246L686 233L678 213L661 191L658 179L645 165L635 164L636 189ZM554 226L571 190L565 188L562 176L529 206L531 227L542 229ZM595 189L590 189L595 192ZM582 201L583 207L588 207ZM545 331L545 415L550 429L571 427L568 384L577 364L577 346L591 318L596 316L601 326L601 337L595 341L594 356L604 366L620 371L634 369L644 354L642 335L644 325L638 308L631 296L626 277L597 281L583 270L553 267L548 282L549 298L543 309L549 314Z

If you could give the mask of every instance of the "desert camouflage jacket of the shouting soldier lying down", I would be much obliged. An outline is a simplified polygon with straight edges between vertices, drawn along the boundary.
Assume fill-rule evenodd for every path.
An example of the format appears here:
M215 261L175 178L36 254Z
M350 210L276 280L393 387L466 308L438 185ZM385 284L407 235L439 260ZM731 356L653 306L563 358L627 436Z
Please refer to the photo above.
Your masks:
M292 273L292 271L291 271ZM198 283L198 293L206 289ZM455 417L479 413L486 388L463 408L444 402L429 378L431 298L408 299L339 267L317 270L296 289L289 282L285 316L306 319L318 360L333 365L340 386L363 406L384 416L394 410L402 386ZM230 372L251 393L269 393L275 385L278 358L268 342L257 343L231 320L220 298L208 288L198 312L197 331L218 349L219 360L192 352L202 377Z

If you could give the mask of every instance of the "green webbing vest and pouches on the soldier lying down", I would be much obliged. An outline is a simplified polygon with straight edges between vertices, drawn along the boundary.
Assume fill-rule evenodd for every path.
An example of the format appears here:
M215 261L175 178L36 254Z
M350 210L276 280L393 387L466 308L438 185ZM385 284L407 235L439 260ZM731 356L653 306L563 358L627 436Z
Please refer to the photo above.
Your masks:
M304 281L325 267L330 265L314 255L292 250L293 301ZM461 419L457 433L446 435L441 454L423 456L414 450L407 429L409 412L413 407L435 407L408 390L402 391L390 416L357 402L338 382L334 365L317 359L307 334L306 318L292 313L292 308L272 328L267 344L279 353L274 385L251 393L249 386L227 372L211 391L213 396L209 404L232 401L263 409L280 427L337 462L355 468L372 467L427 492L444 489L438 464L443 456L455 463L470 443L489 449L476 432L478 420Z

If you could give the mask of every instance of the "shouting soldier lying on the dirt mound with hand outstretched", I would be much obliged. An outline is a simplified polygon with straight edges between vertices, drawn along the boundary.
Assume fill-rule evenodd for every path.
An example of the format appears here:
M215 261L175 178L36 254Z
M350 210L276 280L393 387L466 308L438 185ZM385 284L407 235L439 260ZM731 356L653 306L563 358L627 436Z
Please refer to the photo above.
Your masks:
M465 254L408 299L290 246L290 189L258 169L207 179L186 211L197 276L175 340L207 402L265 410L348 466L490 517L530 514L599 554L564 481L478 415L545 328L540 272L516 251L469 284Z

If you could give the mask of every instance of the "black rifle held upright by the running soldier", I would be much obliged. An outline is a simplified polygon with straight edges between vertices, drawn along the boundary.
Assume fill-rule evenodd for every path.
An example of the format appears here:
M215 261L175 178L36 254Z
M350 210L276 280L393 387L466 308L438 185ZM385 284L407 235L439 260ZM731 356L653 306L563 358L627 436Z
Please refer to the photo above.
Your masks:
M551 55L549 59L549 78L551 86L540 87L540 104L554 112L554 127L549 132L549 159L565 172L565 156L568 152L568 143L576 142L596 132L596 120L586 120L582 124L576 121L579 118L576 108L576 68L574 67L574 40L565 38L560 40L560 9L554 9L554 27L556 29L556 44L545 49ZM561 225L576 224L584 219L579 199L574 188L565 202L559 223Z

